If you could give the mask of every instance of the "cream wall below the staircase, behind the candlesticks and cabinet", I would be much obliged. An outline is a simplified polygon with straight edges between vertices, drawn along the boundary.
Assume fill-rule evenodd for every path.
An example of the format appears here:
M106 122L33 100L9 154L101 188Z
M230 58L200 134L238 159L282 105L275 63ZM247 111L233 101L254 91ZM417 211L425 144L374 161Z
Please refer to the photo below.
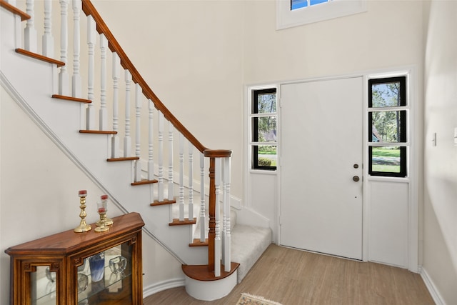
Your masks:
M88 191L86 221L104 192L78 169L1 87L0 304L9 304L9 246L79 225L80 189ZM113 204L109 215L122 214ZM181 264L146 234L144 287L182 279ZM167 268L162 268L167 266Z

